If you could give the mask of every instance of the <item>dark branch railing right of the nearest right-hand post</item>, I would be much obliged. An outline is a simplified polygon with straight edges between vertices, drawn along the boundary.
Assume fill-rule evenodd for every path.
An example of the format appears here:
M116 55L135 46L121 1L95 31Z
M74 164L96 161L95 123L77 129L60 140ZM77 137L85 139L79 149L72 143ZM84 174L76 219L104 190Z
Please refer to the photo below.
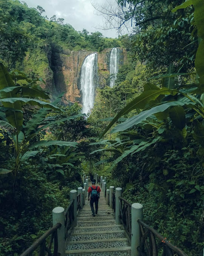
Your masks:
M187 256L182 250L173 246L166 238L161 236L156 230L138 220L140 225L140 246L138 248L141 256L158 256L158 247L162 248L162 256ZM157 245L156 238L159 240Z

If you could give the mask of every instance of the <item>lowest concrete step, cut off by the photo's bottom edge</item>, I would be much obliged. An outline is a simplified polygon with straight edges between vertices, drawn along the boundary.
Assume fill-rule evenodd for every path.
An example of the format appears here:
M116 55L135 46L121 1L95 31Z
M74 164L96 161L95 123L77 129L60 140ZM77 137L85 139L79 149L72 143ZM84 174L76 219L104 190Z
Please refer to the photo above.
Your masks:
M66 250L66 256L131 256L131 247Z

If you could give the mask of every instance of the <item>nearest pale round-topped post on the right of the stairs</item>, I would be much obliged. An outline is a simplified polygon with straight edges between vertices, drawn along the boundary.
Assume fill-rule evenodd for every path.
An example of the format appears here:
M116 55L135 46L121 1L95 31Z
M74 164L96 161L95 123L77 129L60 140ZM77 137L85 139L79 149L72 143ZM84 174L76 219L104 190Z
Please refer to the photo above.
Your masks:
M132 204L131 206L131 256L139 256L137 248L140 245L140 230L137 220L143 219L143 205Z

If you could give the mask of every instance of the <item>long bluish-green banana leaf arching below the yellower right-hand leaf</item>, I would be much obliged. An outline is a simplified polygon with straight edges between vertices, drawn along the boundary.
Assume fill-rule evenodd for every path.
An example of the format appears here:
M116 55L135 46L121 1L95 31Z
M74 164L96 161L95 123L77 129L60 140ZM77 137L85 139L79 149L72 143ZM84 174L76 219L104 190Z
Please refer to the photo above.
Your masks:
M121 132L124 130L127 130L131 128L132 126L139 124L140 122L146 120L149 116L164 112L167 108L171 106L184 106L186 104L194 104L193 102L182 102L182 101L173 101L173 102L167 102L165 104L161 104L159 106L155 106L149 110L145 110L140 112L137 116L133 116L129 118L126 122L123 122L121 124L118 124L116 127L113 128L112 133L114 132Z

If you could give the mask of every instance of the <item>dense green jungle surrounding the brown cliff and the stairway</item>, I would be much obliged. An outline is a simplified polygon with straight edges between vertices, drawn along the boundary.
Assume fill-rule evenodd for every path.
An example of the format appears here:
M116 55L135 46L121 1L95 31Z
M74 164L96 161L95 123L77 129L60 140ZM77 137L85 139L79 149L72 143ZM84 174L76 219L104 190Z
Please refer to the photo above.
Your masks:
M83 172L122 187L143 204L145 223L189 256L203 255L203 0L118 6L107 15L133 30L113 39L44 17L41 6L0 0L1 256L18 256L51 227L52 209L67 208ZM50 49L114 47L127 60L113 88L96 88L87 116L43 89Z

